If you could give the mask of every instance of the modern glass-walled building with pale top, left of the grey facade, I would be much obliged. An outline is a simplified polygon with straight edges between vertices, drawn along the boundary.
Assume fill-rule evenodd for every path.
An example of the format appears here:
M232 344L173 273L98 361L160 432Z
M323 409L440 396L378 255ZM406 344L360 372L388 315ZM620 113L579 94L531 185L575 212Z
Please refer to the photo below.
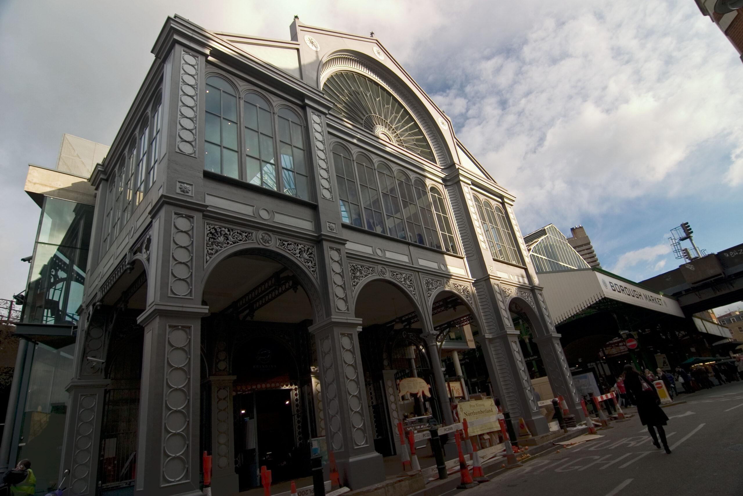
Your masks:
M65 135L56 169L29 166L25 190L41 207L21 321L0 466L32 460L37 493L56 488L66 388L82 304L94 212L90 171L107 146Z

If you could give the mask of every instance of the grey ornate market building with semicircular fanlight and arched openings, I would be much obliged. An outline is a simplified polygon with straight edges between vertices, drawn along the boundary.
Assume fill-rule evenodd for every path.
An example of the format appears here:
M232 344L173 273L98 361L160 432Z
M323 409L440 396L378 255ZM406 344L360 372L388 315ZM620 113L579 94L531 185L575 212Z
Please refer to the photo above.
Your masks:
M346 485L380 482L396 380L431 385L411 415L453 422L441 349L465 326L481 390L545 433L513 315L583 419L514 197L377 39L299 19L291 41L260 39L175 16L152 52L90 179L71 495L201 494L202 451L212 494L229 495L265 463L301 472L315 437ZM267 432L270 454L256 448Z

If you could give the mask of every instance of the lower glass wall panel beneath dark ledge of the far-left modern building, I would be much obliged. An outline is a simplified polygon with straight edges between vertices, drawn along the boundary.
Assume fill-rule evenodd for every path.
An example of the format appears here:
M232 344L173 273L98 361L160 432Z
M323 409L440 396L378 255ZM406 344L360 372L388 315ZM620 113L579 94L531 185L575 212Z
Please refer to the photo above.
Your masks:
M36 344L33 351L16 460L33 463L37 494L55 489L59 477L74 352L74 344L60 350Z

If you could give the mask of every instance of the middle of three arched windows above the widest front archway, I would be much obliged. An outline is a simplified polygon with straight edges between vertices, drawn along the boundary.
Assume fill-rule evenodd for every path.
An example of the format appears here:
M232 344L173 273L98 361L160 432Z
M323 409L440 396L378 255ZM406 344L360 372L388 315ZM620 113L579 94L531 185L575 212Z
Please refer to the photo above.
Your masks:
M245 181L277 189L273 152L273 113L267 101L256 93L244 98Z

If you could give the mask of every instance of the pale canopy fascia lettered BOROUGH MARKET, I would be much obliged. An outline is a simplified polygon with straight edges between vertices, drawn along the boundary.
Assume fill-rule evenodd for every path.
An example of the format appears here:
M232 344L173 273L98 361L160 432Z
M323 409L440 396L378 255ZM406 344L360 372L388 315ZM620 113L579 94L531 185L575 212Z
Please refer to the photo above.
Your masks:
M539 284L544 287L550 313L558 324L604 299L684 317L684 312L674 297L600 268L542 272L539 274Z

